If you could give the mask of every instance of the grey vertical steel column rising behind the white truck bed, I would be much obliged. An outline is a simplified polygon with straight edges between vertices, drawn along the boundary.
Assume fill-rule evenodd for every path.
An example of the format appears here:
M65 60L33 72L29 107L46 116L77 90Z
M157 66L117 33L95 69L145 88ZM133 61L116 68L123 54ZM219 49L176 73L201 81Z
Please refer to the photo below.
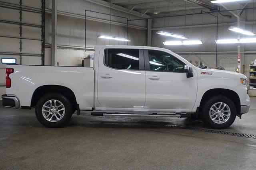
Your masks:
M56 65L57 56L57 0L52 0L52 60L51 65Z

